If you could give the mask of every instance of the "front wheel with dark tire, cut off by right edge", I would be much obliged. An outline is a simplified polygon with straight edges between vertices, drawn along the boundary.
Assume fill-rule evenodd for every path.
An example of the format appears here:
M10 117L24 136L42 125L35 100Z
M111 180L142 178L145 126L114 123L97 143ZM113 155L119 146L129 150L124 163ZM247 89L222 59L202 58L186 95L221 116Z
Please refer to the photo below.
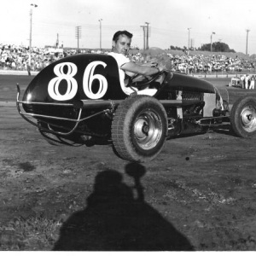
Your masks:
M248 119L251 114L252 119ZM230 113L230 125L237 137L256 136L256 97L241 96L236 100Z

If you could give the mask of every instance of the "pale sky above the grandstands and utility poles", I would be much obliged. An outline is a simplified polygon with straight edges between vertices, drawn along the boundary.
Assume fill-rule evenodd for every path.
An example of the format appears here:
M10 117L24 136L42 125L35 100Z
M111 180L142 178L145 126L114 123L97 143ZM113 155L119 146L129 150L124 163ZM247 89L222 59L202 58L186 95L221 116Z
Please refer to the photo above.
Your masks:
M256 54L255 0L0 0L0 4L0 44L28 46L32 28L32 47L54 46L58 38L64 47L94 49L102 44L110 49L113 33L127 30L133 34L131 45L143 49L143 26L148 24L149 47L198 48L212 38L212 43L228 44L236 52L247 49L247 54Z

